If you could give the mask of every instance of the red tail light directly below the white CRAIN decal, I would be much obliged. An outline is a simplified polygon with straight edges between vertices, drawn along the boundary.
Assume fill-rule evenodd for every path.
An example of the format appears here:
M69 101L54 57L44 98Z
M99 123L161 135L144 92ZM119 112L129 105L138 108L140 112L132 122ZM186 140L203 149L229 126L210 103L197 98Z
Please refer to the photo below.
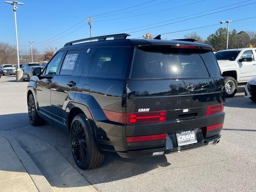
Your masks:
M127 113L127 123L162 122L166 120L166 111Z

